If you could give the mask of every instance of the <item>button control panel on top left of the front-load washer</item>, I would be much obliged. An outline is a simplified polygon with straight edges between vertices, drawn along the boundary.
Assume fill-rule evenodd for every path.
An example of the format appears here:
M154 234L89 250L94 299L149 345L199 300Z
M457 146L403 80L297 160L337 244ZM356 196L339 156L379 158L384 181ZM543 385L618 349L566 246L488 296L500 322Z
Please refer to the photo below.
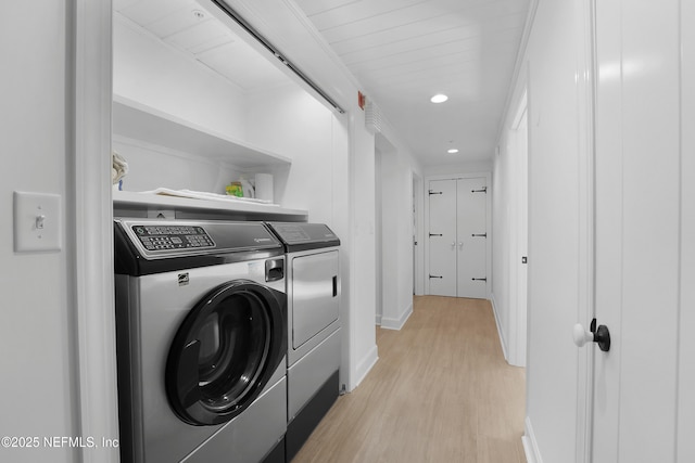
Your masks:
M198 226L137 224L132 233L150 252L172 249L210 249L215 242L205 229Z

